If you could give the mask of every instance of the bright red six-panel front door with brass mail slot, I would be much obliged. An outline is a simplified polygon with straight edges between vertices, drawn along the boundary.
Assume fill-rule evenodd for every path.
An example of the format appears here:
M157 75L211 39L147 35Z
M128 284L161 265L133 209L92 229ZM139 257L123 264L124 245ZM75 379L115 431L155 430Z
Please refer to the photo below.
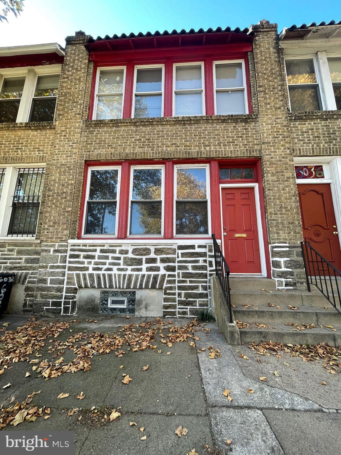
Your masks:
M231 273L261 273L255 189L223 188L224 256Z

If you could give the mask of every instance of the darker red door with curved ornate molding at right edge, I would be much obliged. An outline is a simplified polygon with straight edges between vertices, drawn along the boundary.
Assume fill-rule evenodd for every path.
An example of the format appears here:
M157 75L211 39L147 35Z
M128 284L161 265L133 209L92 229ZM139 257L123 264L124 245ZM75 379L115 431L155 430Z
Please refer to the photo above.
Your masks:
M310 242L327 261L341 270L340 242L330 184L301 184L297 188L304 240ZM316 261L314 255L312 259ZM321 266L319 270L321 272Z

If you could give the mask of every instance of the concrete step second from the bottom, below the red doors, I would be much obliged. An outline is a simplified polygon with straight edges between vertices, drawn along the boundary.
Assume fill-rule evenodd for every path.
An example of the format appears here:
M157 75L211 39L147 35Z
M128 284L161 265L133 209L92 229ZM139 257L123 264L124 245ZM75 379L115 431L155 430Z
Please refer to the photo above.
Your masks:
M259 309L255 309L259 308ZM315 325L341 325L341 314L339 314L331 305L328 310L314 307L298 307L297 310L288 309L288 307L237 307L233 308L234 318L248 324L315 324Z

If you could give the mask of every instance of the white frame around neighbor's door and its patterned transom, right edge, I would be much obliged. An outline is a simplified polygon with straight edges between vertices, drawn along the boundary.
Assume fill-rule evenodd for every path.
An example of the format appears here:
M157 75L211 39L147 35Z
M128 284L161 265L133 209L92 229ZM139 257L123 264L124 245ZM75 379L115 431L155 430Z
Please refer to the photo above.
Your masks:
M296 157L294 158L294 164L295 166L313 166L314 164L325 166L324 172L326 178L296 179L296 183L300 185L330 183L331 198L341 248L341 157Z

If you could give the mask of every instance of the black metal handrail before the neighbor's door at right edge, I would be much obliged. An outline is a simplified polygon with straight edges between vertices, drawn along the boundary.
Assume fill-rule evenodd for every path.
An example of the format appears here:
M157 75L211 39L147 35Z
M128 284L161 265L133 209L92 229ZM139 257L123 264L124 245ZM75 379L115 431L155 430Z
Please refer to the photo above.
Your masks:
M341 272L326 260L310 242L301 242L308 291L313 284L341 314ZM314 259L315 258L315 259ZM330 290L328 284L330 284ZM337 308L337 304L340 307Z

